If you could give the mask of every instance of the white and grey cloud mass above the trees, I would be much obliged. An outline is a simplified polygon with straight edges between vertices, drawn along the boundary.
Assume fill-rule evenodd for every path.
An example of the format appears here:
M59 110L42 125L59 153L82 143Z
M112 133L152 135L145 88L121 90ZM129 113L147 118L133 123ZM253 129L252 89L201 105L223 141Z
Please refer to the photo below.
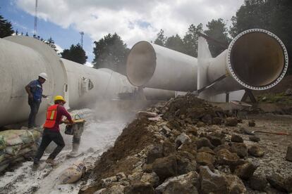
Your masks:
M99 40L116 32L128 46L152 41L164 29L167 36L183 36L190 24L205 26L212 19L230 20L243 0L50 0L38 1L38 16L61 27ZM16 0L18 7L34 15L35 0Z

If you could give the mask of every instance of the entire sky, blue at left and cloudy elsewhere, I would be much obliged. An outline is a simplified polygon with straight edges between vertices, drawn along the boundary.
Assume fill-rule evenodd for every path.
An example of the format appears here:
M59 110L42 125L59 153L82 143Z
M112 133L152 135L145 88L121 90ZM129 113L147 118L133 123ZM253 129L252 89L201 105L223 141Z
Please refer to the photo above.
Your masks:
M191 24L204 26L223 18L228 25L243 0L38 0L37 34L52 37L61 48L80 43L92 62L93 42L115 32L131 48L141 40L154 41L160 29L167 37L181 37ZM0 14L14 30L30 36L35 0L0 0Z

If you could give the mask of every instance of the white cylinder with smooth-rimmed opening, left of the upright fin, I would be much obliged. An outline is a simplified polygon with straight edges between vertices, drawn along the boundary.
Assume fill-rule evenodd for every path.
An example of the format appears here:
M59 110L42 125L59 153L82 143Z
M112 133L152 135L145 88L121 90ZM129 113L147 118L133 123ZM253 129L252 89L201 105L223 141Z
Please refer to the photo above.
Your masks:
M128 55L126 72L135 86L176 91L197 89L197 59L169 48L139 41Z

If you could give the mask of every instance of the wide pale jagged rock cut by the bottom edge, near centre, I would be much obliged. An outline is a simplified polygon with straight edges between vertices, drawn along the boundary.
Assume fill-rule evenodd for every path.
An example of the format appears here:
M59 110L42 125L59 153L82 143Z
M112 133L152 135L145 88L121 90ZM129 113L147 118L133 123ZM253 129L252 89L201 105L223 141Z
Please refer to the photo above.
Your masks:
M189 172L181 176L166 179L164 183L155 189L155 193L176 194L176 193L197 193L196 186L200 185L197 172Z

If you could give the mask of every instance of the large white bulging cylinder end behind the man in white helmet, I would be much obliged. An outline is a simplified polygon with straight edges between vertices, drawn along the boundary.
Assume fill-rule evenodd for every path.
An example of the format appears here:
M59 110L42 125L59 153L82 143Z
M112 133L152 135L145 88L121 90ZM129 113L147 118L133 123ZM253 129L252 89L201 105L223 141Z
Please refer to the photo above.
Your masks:
M0 126L28 119L30 108L25 86L37 79L40 72L49 76L43 84L45 95L63 91L63 86L56 84L66 83L58 58L56 52L36 39L20 36L0 39ZM43 99L39 113L47 109L50 100Z

